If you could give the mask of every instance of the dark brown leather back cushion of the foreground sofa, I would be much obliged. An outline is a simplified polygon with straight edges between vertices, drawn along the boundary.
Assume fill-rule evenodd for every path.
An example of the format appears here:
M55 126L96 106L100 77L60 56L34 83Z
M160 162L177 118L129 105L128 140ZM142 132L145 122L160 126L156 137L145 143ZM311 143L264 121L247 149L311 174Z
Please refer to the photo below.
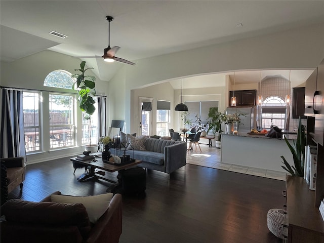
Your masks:
M91 230L86 208L82 204L62 204L50 201L34 203L11 199L1 207L1 215L4 215L8 222L76 226L83 237L88 237Z

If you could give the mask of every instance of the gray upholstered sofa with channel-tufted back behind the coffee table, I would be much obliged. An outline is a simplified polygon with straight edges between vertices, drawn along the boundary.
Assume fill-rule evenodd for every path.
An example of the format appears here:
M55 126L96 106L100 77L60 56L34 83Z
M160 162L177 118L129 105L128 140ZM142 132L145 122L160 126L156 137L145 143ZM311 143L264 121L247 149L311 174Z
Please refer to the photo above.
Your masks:
M127 151L131 158L142 160L139 167L171 174L186 165L186 142L146 138L144 146L145 150ZM109 151L120 155L118 148L110 148Z

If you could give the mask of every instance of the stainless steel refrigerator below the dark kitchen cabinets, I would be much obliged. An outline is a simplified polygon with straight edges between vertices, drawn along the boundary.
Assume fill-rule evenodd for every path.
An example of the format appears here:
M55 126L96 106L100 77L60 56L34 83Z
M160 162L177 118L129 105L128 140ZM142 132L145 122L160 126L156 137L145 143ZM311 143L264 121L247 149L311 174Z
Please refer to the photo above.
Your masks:
M254 117L255 117L255 108L254 107L228 107L226 109L226 114L244 114L240 115L240 123L238 125L239 133L249 133L251 129L254 128Z

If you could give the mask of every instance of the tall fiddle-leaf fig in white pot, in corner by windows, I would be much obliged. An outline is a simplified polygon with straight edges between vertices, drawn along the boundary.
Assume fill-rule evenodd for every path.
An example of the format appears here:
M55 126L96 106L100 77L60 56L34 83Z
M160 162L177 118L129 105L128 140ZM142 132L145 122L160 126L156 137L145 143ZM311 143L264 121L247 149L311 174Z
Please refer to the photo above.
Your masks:
M89 120L89 145L85 145L87 151L97 152L98 144L91 144L91 115L95 112L95 100L93 96L96 95L95 81L96 77L91 75L86 75L85 72L92 67L85 68L86 61L80 63L79 69L74 69L74 71L80 71L80 74L72 74L72 77L76 78L76 82L73 83L72 89L77 90L79 95L79 108L85 112L84 118Z

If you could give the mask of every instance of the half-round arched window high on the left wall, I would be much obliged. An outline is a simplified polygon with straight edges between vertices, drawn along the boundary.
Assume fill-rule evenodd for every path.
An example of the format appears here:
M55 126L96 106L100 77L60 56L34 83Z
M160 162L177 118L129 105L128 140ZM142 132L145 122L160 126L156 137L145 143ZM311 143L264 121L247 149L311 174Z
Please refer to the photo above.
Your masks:
M73 83L74 79L71 77L71 73L65 70L50 72L44 80L44 86L70 90L72 89Z

